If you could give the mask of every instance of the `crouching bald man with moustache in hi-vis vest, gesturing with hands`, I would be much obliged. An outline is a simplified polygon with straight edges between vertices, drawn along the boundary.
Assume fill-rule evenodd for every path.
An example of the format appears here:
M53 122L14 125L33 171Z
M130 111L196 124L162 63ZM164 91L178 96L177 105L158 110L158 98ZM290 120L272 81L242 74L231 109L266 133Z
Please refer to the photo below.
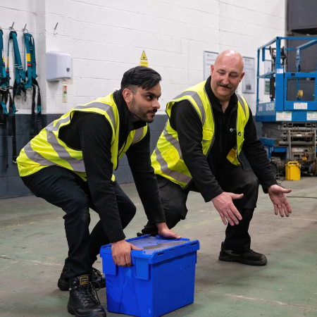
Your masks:
M200 192L206 203L212 201L223 224L228 221L219 260L261 266L266 256L250 249L248 233L259 184L281 217L292 212L285 197L291 190L277 185L247 101L235 93L243 67L239 53L223 51L208 80L168 102L169 119L151 163L168 228L185 219L188 193ZM252 170L244 169L242 150ZM150 223L142 230L143 235L156 232Z

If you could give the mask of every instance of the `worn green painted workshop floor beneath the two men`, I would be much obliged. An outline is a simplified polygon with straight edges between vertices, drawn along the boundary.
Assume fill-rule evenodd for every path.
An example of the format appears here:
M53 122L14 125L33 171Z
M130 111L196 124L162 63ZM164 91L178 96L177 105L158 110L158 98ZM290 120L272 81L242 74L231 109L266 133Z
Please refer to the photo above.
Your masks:
M281 183L293 189L292 216L275 216L260 189L249 230L251 248L268 257L263 267L218 261L225 226L211 203L189 194L187 219L175 231L201 245L195 301L166 316L317 316L317 199L305 198L317 197L317 178ZM122 187L137 206L137 216L125 230L127 237L135 237L146 218L135 185ZM62 216L63 211L36 197L0 199L1 317L70 316L68 292L56 286L67 255ZM101 270L101 261L96 267ZM106 307L106 292L99 291L99 297Z

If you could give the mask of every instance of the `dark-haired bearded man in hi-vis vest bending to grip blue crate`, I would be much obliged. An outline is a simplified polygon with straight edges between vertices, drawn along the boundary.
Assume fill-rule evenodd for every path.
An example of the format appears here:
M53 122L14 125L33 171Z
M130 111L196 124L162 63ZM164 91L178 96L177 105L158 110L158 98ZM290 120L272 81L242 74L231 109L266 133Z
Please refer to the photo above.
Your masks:
M104 287L104 278L92 268L100 247L112 243L118 266L131 266L131 250L138 249L125 242L123 233L135 216L135 205L113 176L123 154L149 223L163 237L180 238L166 225L150 160L148 123L160 108L160 81L151 68L131 68L120 90L75 106L44 128L18 157L25 185L66 213L68 257L58 287L70 290L68 312L75 316L106 316L92 292ZM90 235L89 208L100 218Z

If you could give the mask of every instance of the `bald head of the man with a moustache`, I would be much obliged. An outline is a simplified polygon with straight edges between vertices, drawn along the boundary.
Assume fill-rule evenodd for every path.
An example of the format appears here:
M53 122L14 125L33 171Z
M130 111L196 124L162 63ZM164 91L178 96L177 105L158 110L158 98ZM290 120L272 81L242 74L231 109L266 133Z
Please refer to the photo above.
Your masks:
M229 101L240 84L243 73L243 58L237 51L221 52L211 65L211 89L220 102Z

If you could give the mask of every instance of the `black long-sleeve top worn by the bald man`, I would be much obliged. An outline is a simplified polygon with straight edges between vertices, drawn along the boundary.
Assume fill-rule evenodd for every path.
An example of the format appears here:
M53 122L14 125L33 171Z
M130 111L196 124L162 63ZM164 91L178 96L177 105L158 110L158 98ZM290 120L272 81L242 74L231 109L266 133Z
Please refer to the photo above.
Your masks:
M223 164L230 163L227 156L237 144L237 96L230 98L228 108L223 113L222 106L211 89L211 77L206 81L206 94L213 111L215 123L214 142L208 156L203 154L201 139L201 120L192 104L185 100L174 104L170 115L170 125L178 132L180 150L193 182L189 188L197 189L204 200L211 201L223 192L215 178L215 173ZM266 150L256 134L256 127L249 108L249 120L244 128L244 144L242 151L247 157L263 191L277 184Z

